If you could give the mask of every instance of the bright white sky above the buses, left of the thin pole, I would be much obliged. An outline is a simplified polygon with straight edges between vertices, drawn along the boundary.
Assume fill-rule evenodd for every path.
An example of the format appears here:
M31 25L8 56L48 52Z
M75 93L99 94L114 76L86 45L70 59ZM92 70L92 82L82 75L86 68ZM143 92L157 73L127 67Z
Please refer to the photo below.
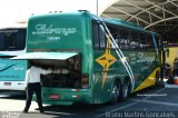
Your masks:
M0 27L50 11L89 10L97 13L97 0L0 0Z

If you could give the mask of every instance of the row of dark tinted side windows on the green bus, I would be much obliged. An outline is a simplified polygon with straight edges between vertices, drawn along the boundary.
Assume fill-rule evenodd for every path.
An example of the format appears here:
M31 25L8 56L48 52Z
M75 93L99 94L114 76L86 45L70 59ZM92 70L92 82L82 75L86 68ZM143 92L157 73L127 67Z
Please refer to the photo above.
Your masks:
M99 26L99 23L93 23L92 26L95 48L106 48L106 33L102 30L102 26ZM155 49L155 42L150 33L139 32L112 24L107 24L107 27L120 49ZM156 41L158 41L157 38Z

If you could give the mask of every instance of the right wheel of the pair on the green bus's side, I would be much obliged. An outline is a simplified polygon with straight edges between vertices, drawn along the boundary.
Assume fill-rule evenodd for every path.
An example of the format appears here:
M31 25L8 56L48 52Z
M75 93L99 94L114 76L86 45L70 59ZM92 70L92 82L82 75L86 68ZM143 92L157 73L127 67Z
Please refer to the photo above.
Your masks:
M120 89L120 100L121 101L126 100L128 95L129 95L129 81L125 80Z

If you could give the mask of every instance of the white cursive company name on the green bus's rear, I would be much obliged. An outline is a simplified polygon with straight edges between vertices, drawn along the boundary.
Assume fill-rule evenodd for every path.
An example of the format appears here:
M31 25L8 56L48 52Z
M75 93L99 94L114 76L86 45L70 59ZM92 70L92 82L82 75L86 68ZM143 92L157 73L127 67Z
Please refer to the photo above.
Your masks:
M77 32L77 28L53 28L53 24L37 24L36 31L32 31L32 35L63 35L69 36Z

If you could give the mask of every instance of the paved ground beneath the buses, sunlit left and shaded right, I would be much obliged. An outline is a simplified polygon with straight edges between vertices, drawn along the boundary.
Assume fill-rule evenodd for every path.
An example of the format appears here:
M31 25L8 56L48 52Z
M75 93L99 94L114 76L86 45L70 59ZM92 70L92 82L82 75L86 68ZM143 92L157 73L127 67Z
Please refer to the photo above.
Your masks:
M148 88L116 105L44 106L39 114L33 101L22 114L22 92L0 91L0 118L178 118L178 88Z

